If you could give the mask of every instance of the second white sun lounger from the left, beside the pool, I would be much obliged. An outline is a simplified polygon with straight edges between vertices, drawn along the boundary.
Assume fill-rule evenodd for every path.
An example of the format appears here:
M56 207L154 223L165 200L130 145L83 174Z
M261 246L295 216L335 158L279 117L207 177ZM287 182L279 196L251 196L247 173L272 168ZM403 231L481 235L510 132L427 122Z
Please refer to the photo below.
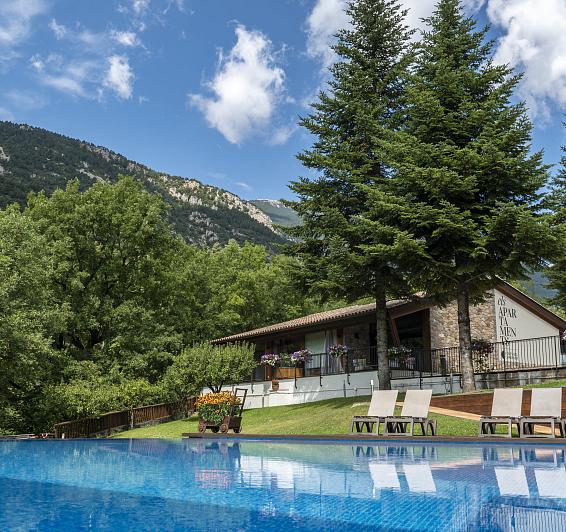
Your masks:
M421 427L423 436L436 434L436 420L428 419L428 409L432 398L432 390L408 390L403 402L400 416L385 418L385 435L415 435L415 425Z

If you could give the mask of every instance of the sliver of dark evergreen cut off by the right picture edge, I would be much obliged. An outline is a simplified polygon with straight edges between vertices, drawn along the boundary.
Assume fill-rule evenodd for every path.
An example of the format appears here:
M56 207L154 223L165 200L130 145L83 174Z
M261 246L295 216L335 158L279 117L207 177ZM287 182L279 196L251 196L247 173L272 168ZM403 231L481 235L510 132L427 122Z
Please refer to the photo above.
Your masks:
M566 123L564 124L566 126ZM558 230L559 245L547 270L549 287L557 291L552 302L566 312L566 146L562 148L562 166L552 182L548 206L552 212L552 224Z

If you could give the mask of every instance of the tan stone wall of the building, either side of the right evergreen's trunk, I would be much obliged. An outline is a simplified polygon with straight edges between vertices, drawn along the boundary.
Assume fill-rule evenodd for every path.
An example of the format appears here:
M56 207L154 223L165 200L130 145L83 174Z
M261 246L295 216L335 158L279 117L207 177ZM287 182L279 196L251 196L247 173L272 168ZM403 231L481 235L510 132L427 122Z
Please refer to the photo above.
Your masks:
M472 338L496 341L495 302L493 295L470 308ZM456 302L430 309L430 338L433 349L458 346L458 310Z

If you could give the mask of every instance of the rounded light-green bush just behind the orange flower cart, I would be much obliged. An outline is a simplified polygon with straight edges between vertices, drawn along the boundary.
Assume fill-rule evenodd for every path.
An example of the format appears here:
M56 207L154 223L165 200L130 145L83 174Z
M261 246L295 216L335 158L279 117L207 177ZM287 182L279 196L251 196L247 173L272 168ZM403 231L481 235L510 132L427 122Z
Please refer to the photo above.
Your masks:
M164 386L177 397L200 393L204 387L220 392L225 384L242 382L255 367L254 347L250 344L200 343L175 358Z

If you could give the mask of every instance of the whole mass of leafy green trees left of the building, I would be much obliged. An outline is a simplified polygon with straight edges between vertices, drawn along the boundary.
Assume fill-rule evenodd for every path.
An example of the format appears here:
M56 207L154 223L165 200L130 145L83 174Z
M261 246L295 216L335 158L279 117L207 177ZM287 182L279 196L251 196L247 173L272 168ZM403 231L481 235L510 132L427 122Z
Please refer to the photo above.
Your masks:
M162 387L183 348L318 310L295 286L296 259L189 245L163 200L129 177L0 211L0 252L3 432L198 392L202 375L170 386L170 372ZM214 378L243 378L242 366L248 376L242 356L215 359L225 367Z

